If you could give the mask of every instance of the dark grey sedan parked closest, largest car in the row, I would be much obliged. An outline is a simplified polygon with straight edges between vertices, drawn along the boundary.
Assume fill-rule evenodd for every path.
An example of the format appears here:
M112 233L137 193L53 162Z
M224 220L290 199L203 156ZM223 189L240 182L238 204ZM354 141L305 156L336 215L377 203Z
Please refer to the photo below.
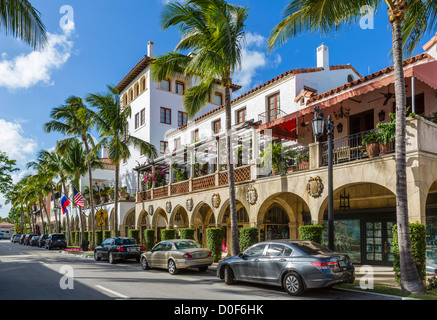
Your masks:
M248 281L282 286L292 296L307 289L352 283L354 274L349 256L304 240L257 243L217 266L217 277L228 285Z

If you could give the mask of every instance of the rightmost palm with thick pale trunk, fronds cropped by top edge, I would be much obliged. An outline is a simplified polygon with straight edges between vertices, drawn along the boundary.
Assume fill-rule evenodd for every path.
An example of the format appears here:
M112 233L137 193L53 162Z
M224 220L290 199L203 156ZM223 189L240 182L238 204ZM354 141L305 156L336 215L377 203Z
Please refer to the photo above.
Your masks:
M424 293L411 250L406 183L406 90L403 69L404 51L412 53L422 36L435 28L437 2L433 0L291 0L283 20L269 39L269 49L289 38L308 31L329 35L342 26L357 22L361 8L371 6L375 12L385 3L392 28L393 67L396 95L396 217L399 229L399 253L402 290Z

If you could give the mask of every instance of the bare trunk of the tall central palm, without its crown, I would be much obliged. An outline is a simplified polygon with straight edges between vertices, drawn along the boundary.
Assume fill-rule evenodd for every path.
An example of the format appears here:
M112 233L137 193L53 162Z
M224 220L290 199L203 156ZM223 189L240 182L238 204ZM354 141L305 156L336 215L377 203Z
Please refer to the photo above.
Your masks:
M235 177L234 177L234 160L232 157L232 109L231 109L231 89L227 85L225 87L225 103L226 103L226 156L228 163L228 183L229 183L229 213L231 218L231 247L232 255L236 256L240 253L240 242L238 240L238 225L237 225L237 201L235 198Z

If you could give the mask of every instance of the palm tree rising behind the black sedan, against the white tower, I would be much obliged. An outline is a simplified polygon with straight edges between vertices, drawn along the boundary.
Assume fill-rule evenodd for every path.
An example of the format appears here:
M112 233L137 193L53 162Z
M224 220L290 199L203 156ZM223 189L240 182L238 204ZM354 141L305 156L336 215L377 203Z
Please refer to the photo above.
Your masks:
M96 149L104 146L109 152L109 158L115 166L114 191L114 235L118 237L118 186L120 180L120 163L130 158L129 145L139 146L141 154L149 158L157 156L156 148L139 138L129 135L127 121L131 116L130 106L121 107L118 89L108 86L106 94L89 94L87 102L97 107L97 126L101 133L101 141Z

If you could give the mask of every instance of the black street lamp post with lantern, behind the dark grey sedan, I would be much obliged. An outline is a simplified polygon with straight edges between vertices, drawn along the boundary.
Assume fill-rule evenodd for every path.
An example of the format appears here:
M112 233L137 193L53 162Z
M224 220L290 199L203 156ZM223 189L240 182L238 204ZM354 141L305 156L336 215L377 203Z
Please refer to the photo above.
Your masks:
M328 248L334 251L334 188L333 188L333 138L334 123L331 115L326 119L325 114L320 107L315 107L315 116L313 120L313 133L320 138L325 129L328 133Z

